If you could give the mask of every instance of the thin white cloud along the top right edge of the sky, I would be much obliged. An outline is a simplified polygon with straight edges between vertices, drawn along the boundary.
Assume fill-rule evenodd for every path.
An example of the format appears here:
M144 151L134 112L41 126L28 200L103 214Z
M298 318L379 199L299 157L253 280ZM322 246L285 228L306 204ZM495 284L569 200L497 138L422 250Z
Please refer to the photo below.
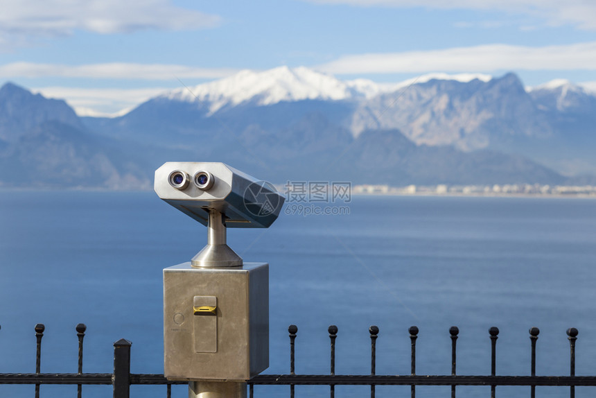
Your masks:
M315 3L362 7L497 10L512 15L540 17L550 25L572 24L596 30L596 2L590 0L310 0Z

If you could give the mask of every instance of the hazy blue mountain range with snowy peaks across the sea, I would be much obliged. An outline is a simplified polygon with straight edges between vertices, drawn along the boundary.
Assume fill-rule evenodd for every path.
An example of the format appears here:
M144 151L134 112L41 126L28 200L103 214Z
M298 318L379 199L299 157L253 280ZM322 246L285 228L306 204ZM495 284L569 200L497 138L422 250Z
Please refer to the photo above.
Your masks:
M567 81L442 74L398 84L304 67L182 87L114 118L0 89L0 187L148 189L168 160L275 183L596 184L596 96Z

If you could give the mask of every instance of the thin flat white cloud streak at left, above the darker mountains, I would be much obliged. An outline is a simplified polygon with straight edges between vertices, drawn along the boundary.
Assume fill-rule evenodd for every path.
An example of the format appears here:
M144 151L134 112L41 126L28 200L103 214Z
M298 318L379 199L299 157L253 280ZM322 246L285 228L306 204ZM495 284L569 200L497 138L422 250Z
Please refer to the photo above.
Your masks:
M109 78L141 80L173 80L175 78L223 78L237 69L209 69L177 64L134 64L111 62L105 64L63 65L12 62L0 65L0 78Z

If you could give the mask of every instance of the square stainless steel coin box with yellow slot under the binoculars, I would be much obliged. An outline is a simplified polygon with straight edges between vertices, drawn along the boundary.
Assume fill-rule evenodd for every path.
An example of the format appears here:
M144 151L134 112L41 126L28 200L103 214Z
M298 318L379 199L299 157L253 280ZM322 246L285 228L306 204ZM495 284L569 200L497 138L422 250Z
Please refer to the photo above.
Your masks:
M164 269L164 374L248 380L269 366L269 264Z

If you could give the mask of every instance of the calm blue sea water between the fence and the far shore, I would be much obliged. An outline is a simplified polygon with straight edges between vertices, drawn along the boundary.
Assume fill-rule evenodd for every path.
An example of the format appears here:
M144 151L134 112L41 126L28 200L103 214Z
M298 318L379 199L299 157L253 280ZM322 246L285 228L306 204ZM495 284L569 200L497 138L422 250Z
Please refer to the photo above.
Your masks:
M410 373L408 327L420 329L417 373L450 374L449 327L459 327L457 372L490 373L488 329L500 329L498 374L529 374L529 327L539 327L537 374L569 372L565 331L579 329L577 374L596 374L596 201L561 198L355 196L348 215L282 214L268 230L229 230L245 261L270 263L270 368L289 371L288 325L298 326L296 371L328 373L327 327L339 328L337 374L370 372L368 328L378 325L377 374ZM0 372L76 372L75 325L87 325L85 372L112 371L112 344L132 341L132 372L163 372L161 270L189 261L205 228L155 193L25 192L0 195ZM133 397L165 388L133 386ZM448 387L418 397L449 396ZM489 388L459 387L458 397ZM288 387L256 386L287 397ZM109 386L84 396L110 397ZM378 387L407 397L409 387ZM298 386L297 397L328 396ZM529 396L529 388L498 388ZM593 397L595 388L577 388ZM366 397L367 387L336 388ZM33 386L0 386L31 397ZM42 386L42 397L76 396ZM186 397L186 388L173 391ZM537 388L565 397L568 388Z

